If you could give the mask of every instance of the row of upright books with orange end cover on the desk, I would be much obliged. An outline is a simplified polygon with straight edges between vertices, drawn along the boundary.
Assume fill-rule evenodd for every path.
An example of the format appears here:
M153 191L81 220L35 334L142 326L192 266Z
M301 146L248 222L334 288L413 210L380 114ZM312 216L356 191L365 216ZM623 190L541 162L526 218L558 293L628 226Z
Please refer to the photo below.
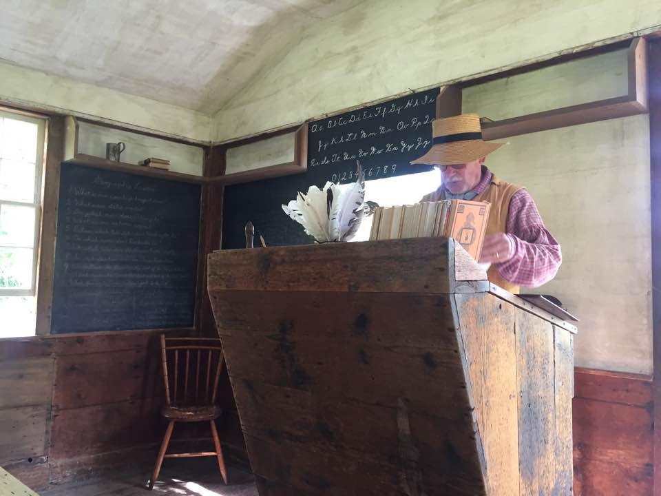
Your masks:
M490 207L490 203L471 200L379 207L374 213L370 240L445 236L457 240L479 260Z

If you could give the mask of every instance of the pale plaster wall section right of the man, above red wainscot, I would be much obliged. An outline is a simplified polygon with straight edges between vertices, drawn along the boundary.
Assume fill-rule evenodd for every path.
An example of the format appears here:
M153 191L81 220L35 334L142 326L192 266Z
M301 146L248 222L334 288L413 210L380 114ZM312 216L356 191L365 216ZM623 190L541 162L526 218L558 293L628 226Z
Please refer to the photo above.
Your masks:
M651 373L649 117L507 141L487 165L527 187L563 249L556 278L530 292L580 318L576 366Z

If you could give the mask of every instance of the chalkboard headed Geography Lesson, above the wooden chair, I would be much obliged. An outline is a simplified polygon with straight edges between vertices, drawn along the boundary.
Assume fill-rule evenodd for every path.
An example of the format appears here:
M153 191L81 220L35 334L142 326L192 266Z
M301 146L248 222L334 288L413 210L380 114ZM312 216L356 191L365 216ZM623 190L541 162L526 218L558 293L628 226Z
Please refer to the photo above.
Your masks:
M192 327L200 185L62 163L52 333Z

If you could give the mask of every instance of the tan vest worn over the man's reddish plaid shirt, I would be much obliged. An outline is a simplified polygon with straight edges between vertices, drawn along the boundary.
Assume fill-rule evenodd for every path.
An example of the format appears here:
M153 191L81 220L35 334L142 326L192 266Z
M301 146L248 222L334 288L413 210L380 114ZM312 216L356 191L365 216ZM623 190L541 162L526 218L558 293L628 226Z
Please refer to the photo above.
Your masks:
M522 187L505 183L505 181L499 180L496 176L492 176L491 184L487 186L487 189L473 198L474 201L491 203L489 222L487 223L487 236L489 234L505 232L505 229L507 228L507 213L510 211L510 200L512 199L512 196L514 196L514 193L518 192L519 189L522 189ZM421 201L438 200L445 200L443 188L439 188L435 192L426 194ZM490 282L493 282L494 285L507 289L510 293L518 294L519 287L503 279L493 265L489 267L487 276Z

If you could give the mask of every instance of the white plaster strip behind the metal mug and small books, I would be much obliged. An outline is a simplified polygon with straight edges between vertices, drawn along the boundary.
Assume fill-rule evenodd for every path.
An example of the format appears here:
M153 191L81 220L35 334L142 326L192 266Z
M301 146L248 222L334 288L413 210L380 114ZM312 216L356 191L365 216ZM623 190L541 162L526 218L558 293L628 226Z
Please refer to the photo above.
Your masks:
M170 161L169 170L172 172L202 176L204 167L202 147L182 145L112 127L78 123L78 153L105 158L106 143L120 141L126 145L120 155L124 163L137 165L138 162L149 157L166 158Z

